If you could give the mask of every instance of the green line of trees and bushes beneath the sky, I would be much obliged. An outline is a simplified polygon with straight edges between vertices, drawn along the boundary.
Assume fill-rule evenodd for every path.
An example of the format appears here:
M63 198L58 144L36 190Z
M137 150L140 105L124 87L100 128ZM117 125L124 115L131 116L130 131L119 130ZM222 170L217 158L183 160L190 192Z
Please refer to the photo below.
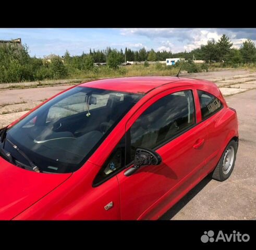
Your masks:
M110 70L112 70L112 75L115 74L116 70L125 75L127 70L119 68L125 59L126 61L145 61L144 67L148 67L147 61L185 58L188 60L186 67L190 72L198 70L198 67L192 62L193 56L197 60L206 61L206 64L201 66L202 70L214 62L219 62L224 67L256 63L256 48L253 41L246 40L239 49L232 48L232 46L233 43L224 34L220 40L209 40L205 45L201 45L191 52L155 52L154 49L147 51L145 48L141 48L139 51L133 51L130 48L125 48L125 51L122 49L118 51L115 48L107 47L97 51L90 49L89 53L82 53L77 56L71 56L66 51L62 57L53 56L47 60L46 58L31 57L26 45L22 48L4 45L0 47L0 83L63 79L84 76L85 73L93 77L99 75L104 77L109 75ZM95 67L94 63L98 62L105 62L107 66ZM161 69L161 67L156 65L156 69Z

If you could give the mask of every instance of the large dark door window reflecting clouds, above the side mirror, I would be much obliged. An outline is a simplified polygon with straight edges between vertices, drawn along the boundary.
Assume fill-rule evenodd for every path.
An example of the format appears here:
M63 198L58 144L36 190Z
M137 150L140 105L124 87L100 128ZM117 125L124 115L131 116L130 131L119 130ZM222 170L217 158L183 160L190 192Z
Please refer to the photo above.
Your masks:
M131 159L139 146L154 149L196 123L192 91L180 91L152 104L133 123Z

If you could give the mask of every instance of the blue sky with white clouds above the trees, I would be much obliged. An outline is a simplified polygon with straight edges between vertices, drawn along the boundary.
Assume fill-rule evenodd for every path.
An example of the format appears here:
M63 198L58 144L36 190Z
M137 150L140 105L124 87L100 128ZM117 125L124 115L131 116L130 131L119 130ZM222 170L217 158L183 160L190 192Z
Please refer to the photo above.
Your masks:
M251 39L256 44L255 28L0 28L0 40L21 38L27 44L31 56L64 55L66 50L74 55L88 53L91 49L129 47L139 50L191 51L206 44L209 39L218 40L228 35L233 46Z

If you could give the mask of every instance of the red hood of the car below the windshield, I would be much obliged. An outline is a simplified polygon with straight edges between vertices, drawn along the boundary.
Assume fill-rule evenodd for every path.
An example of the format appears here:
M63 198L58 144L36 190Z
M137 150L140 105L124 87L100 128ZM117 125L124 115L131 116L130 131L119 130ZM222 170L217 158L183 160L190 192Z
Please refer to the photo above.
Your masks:
M71 176L24 170L2 157L0 165L0 220L13 219Z

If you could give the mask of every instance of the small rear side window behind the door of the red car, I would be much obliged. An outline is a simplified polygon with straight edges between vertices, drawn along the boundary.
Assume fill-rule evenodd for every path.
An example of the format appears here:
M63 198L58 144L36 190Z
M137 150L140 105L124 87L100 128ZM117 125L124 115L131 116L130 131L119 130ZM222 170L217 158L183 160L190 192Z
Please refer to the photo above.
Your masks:
M201 90L198 90L197 92L200 101L202 120L205 120L223 108L221 101L214 95Z

